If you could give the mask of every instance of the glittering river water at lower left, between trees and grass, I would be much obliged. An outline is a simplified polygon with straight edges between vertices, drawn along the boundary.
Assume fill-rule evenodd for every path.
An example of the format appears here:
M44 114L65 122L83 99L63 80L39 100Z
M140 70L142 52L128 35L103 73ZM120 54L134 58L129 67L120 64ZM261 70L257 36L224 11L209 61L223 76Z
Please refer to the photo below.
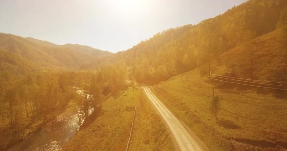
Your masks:
M30 151L30 150L60 150L69 139L78 131L78 109L75 101L69 103L63 110L55 112L53 120L47 124L44 122L25 139L14 143L8 151ZM66 132L65 135L63 135Z

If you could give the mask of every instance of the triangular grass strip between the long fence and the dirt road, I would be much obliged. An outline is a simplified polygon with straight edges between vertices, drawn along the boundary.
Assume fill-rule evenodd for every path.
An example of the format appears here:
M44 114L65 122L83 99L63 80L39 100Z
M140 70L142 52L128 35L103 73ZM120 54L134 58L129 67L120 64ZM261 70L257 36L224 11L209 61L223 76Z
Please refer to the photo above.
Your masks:
M155 108L141 91L130 151L174 151L174 145Z

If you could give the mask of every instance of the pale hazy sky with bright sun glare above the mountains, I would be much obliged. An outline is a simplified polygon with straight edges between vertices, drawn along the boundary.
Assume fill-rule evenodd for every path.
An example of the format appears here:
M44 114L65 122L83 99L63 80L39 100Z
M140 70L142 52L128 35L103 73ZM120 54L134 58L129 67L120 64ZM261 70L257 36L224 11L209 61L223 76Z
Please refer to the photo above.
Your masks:
M0 0L0 32L58 45L127 50L154 34L247 0Z

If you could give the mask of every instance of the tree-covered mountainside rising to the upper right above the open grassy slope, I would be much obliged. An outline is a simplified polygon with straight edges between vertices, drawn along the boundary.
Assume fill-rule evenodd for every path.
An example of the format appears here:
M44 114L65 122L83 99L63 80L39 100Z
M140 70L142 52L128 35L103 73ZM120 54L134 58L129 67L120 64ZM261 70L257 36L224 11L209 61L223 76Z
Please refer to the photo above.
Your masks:
M249 0L197 25L157 33L95 64L117 62L129 66L136 80L144 83L158 83L199 66L209 68L211 60L231 48L284 28L286 6L286 0ZM286 31L280 30L278 34Z

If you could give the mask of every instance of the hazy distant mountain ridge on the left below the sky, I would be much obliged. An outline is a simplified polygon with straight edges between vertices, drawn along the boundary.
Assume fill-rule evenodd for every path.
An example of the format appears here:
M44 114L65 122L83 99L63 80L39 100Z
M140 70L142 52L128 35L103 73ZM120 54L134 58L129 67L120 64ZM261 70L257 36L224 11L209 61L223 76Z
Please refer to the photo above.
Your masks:
M33 62L34 65L31 66L36 64L36 66L46 67L47 69L77 69L91 60L113 54L85 45L55 45L47 41L22 38L5 33L0 33L0 48L3 53L13 53L18 58L21 57L21 61L26 60L21 64L25 65L29 64L28 62Z

